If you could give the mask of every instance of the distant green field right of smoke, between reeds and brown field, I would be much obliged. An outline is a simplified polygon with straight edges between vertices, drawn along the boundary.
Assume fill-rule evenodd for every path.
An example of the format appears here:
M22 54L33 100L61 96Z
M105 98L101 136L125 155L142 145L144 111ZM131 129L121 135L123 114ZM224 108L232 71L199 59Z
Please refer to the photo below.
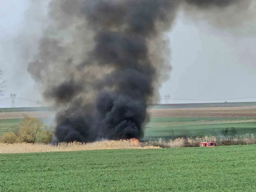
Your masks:
M223 135L223 130L234 127L237 135L256 134L256 117L184 117L151 118L143 140L164 140L177 137ZM228 134L231 134L230 132Z

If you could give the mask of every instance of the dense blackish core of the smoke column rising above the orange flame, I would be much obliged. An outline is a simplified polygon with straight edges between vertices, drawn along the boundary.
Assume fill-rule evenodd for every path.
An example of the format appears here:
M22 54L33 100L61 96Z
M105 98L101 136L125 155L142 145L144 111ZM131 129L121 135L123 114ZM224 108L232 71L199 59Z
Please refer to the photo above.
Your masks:
M153 96L156 69L148 52L148 41L167 28L176 1L93 1L84 11L95 36L94 61L114 68L104 81L112 91L100 93L96 101L100 137L129 139L143 136L142 124ZM102 14L106 15L102 17Z

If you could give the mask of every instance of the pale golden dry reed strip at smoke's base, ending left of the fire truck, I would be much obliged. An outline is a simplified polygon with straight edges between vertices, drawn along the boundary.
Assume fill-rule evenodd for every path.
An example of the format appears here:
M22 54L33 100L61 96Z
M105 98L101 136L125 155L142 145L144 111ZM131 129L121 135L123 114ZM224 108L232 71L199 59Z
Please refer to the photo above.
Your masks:
M99 149L153 149L158 146L138 146L133 141L96 141L92 143L60 143L58 145L47 145L41 143L0 143L0 153L38 153L38 152L56 152L56 151L82 151Z

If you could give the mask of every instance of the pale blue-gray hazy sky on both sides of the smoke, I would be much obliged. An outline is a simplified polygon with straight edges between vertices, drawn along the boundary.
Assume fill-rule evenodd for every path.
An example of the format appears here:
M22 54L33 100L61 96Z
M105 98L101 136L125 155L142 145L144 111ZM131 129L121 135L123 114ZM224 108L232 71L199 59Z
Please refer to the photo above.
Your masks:
M22 47L14 41L23 27L28 0L0 2L0 68L5 71L4 79L7 80L5 95L0 96L2 108L11 107L11 100L5 99L11 92L15 92L17 98L27 100L38 100L40 96L26 67L19 64L16 54L17 49ZM160 89L162 98L165 94L171 98L199 100L256 96L256 22L224 30L180 15L169 37L173 69L170 80ZM232 101L256 101L256 98ZM38 105L36 102L16 100L16 107Z

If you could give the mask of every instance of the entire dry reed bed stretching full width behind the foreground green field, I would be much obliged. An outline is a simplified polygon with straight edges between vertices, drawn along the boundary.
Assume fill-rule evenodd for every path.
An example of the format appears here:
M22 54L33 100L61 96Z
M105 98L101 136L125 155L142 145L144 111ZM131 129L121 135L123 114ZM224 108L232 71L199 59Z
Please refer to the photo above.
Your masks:
M96 141L92 143L60 143L58 145L46 145L40 143L0 143L0 153L38 153L58 151L82 151L99 149L154 149L154 148L177 148L177 147L199 147L199 142L214 141L217 146L223 145L251 145L256 144L256 137L253 134L245 134L234 138L223 136L204 136L196 138L178 138L164 141L161 138L157 141L140 142L138 145L132 140L109 140Z

